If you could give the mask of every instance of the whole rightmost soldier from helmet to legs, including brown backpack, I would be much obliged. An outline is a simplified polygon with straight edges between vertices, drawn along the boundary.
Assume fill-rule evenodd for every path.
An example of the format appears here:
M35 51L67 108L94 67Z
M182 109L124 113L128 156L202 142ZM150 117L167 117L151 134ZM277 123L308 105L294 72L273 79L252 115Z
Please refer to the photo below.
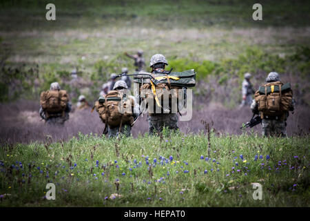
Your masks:
M256 91L251 111L262 119L262 135L287 137L286 120L294 107L291 85L283 84L278 73L271 72L266 84Z

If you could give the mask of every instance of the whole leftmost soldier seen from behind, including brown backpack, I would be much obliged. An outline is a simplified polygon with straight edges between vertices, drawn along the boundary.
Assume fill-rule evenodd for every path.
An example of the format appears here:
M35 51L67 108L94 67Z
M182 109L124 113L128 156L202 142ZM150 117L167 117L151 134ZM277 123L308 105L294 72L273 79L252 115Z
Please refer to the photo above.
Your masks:
M58 82L50 84L50 90L40 95L40 116L50 125L61 125L69 119L71 103L69 95L61 90Z

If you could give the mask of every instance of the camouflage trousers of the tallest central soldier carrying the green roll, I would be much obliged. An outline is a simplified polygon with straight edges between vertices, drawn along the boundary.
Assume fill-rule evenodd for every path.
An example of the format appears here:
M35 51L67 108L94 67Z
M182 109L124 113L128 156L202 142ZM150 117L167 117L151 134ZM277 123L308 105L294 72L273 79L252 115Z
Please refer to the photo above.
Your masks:
M169 130L178 130L178 115L176 113L155 113L147 115L149 122L149 134L159 133L164 127Z

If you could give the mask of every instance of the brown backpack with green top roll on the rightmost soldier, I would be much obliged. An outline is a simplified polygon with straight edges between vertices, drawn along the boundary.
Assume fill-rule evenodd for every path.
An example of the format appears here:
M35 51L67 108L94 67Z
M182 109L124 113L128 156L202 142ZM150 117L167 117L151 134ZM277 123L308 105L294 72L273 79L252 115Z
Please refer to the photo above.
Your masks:
M258 111L263 115L281 116L292 111L293 91L291 84L282 84L280 81L260 86L255 93Z

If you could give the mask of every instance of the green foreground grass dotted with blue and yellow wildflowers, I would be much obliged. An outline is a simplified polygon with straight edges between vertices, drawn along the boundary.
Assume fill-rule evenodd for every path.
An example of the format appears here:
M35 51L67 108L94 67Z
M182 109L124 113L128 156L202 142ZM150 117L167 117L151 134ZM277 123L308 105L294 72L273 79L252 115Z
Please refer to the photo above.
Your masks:
M200 133L4 145L0 206L309 206L309 136L211 134L209 161L200 159L207 143ZM56 200L43 198L49 182L56 184ZM262 200L252 198L252 182L262 184ZM105 200L113 193L123 197Z

